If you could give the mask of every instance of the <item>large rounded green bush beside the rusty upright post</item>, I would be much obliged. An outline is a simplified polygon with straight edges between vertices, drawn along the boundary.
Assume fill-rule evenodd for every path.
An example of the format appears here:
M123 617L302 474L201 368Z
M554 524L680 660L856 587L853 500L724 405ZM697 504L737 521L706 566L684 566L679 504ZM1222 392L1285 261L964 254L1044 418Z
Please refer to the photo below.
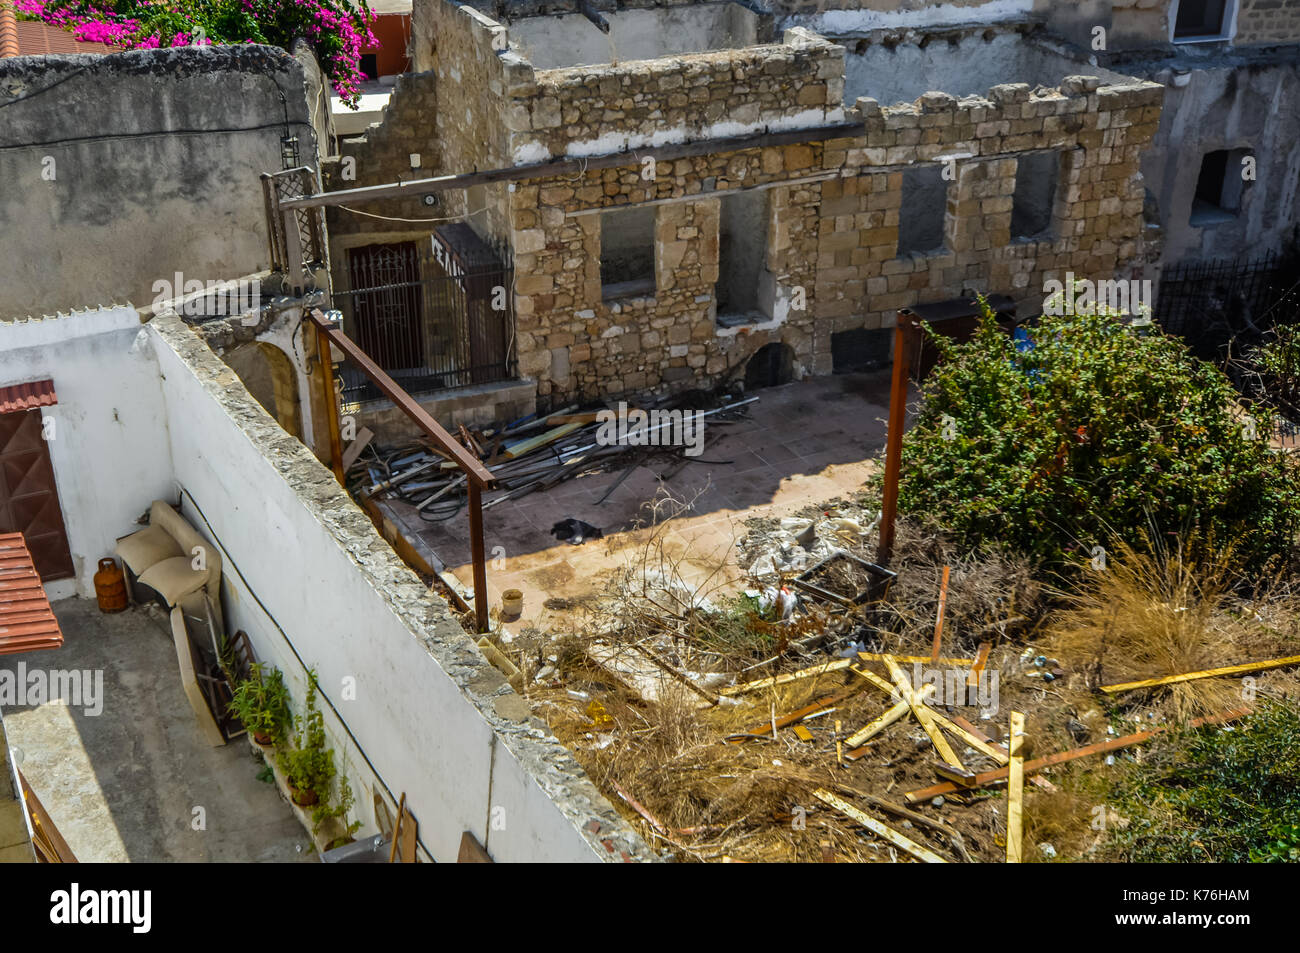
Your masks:
M1292 553L1296 465L1221 371L1105 313L1046 316L1031 338L1020 350L987 307L970 341L933 335L944 360L904 441L904 512L1049 563L1143 529L1247 533L1252 566Z

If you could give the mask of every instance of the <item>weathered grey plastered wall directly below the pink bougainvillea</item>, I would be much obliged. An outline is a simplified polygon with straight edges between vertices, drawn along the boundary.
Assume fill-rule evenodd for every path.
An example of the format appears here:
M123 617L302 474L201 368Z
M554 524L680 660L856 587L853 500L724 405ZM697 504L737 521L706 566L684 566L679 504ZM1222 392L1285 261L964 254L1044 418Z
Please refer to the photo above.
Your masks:
M265 46L0 60L0 317L269 267L260 176L316 163L320 73ZM315 83L315 86L313 86ZM318 113L318 111L317 111ZM328 112L325 113L328 116Z

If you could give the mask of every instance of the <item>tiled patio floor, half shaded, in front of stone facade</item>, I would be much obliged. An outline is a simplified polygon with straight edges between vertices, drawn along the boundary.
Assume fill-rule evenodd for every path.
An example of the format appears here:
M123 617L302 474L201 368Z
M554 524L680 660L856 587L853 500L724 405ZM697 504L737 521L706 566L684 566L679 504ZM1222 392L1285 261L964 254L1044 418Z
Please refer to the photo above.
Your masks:
M710 443L699 462L664 484L673 497L694 499L667 538L692 567L686 572L696 571L701 581L719 563L724 571L712 581L740 579L728 553L744 536L745 520L779 517L853 494L874 472L871 458L884 447L888 372L819 377L755 395L759 400L749 406L749 420L727 425L725 436ZM523 621L545 623L547 598L599 592L615 568L644 549L647 534L629 530L644 519L645 502L655 497L660 475L672 465L660 458L637 467L603 504L597 501L619 480L619 471L490 507L484 514L488 555L504 554L504 566L489 564L493 605L499 605L502 590L521 589ZM463 582L472 584L464 511L445 523L425 523L410 506L391 511L408 536L419 536ZM601 527L606 538L581 546L556 543L550 528L568 516Z

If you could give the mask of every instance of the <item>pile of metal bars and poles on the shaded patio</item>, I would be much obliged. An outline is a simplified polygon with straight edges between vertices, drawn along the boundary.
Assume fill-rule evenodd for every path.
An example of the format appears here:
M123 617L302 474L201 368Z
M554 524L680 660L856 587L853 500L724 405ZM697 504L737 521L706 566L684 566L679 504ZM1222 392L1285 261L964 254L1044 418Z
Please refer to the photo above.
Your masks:
M462 424L455 433L495 477L495 486L484 495L485 510L582 473L621 469L599 501L604 502L637 467L654 458L667 463L659 475L664 480L699 459L699 452L718 437L714 428L744 420L745 406L758 400L723 395L708 399L710 407L689 406L706 403L699 397L660 400L647 410L619 404L580 411L575 404L484 429ZM708 437L701 426L703 419L708 421ZM347 484L358 499L400 499L429 523L452 519L464 506L465 475L450 458L424 443L389 450L367 445L348 465Z

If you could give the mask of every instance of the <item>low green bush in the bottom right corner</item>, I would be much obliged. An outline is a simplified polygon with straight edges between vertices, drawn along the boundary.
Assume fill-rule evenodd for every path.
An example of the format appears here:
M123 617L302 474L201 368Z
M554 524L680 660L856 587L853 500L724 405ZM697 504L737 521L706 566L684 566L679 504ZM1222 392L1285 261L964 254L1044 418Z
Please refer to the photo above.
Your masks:
M1300 710L1264 702L1231 729L1153 749L1108 801L1128 824L1108 853L1131 863L1300 859Z

